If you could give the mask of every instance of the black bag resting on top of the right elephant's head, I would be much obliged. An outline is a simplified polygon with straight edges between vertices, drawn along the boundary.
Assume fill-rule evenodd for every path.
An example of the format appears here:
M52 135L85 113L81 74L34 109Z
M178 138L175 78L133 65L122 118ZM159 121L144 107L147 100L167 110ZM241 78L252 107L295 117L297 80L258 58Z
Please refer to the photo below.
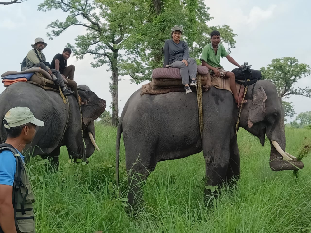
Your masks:
M261 71L253 70L247 62L242 68L235 68L231 72L235 75L235 81L243 86L252 85L261 79Z

